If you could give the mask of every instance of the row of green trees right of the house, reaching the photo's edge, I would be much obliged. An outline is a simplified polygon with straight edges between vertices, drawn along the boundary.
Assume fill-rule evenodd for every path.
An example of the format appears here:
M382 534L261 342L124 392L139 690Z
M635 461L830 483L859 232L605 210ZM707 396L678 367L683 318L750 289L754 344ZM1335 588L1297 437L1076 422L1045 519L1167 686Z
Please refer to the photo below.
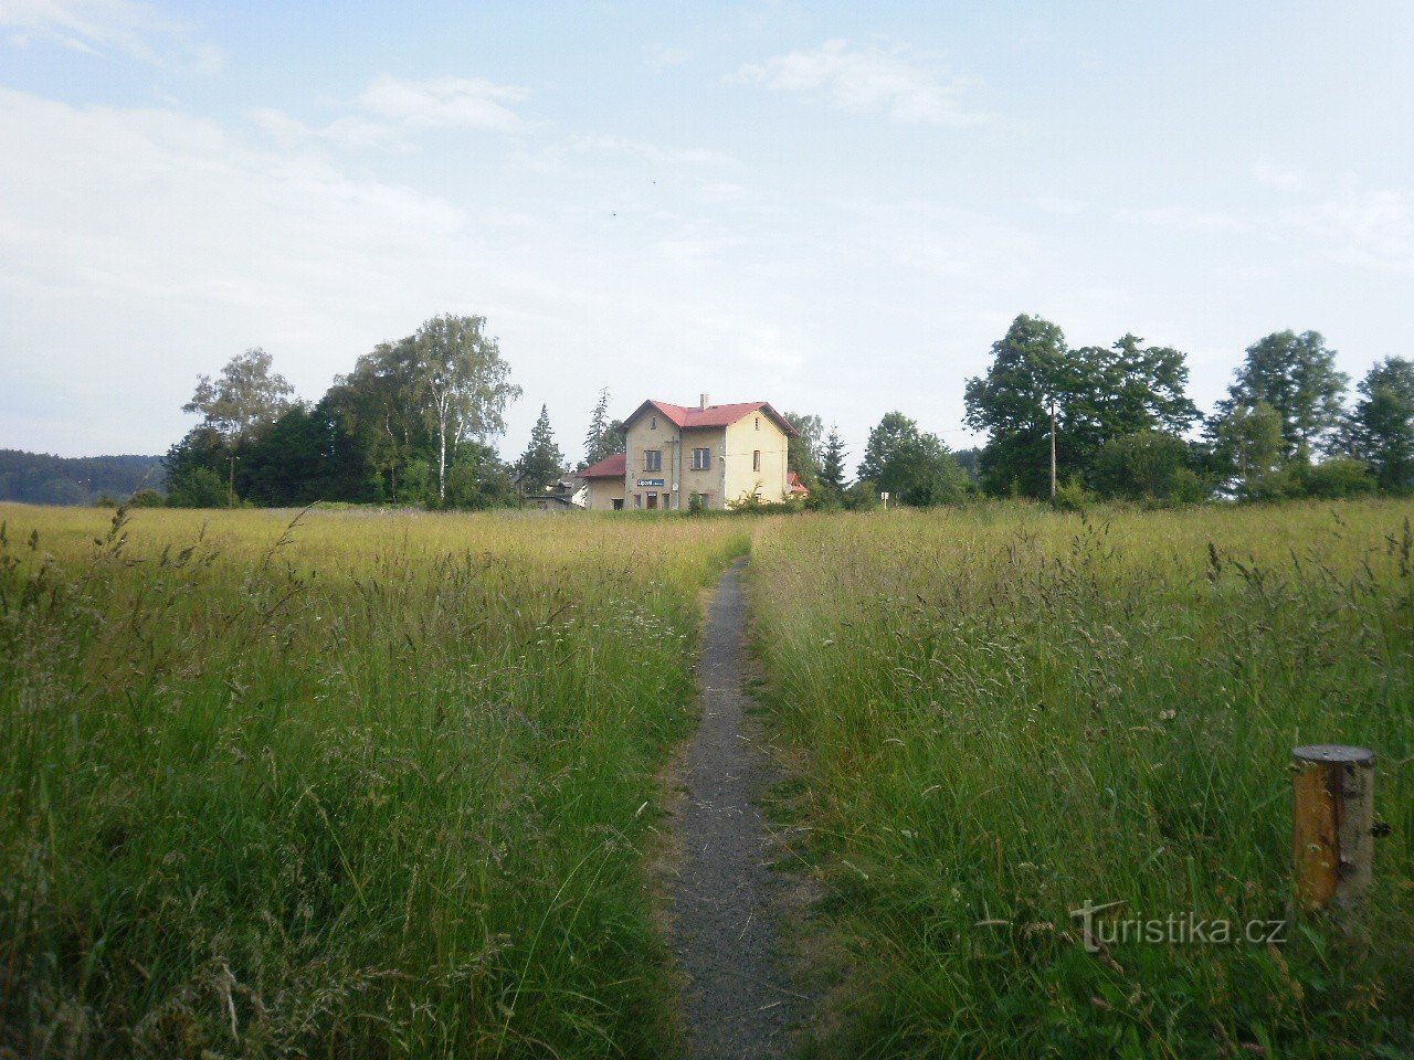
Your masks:
M930 506L971 493L1171 503L1414 492L1406 358L1374 365L1350 401L1349 377L1319 332L1274 332L1247 348L1227 396L1203 416L1188 397L1185 355L1137 335L1072 348L1056 324L1021 315L991 355L986 375L966 384L964 424L987 437L978 449L952 452L888 413L848 483L839 432L822 438L817 417L789 414L802 432L793 466L812 503L867 507L881 493Z

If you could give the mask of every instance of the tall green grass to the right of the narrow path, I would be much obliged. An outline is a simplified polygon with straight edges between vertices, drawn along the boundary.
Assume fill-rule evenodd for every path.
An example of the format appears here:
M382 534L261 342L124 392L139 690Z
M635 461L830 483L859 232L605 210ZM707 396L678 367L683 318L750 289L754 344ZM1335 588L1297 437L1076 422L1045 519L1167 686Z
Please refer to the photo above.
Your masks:
M754 548L844 1056L1414 1052L1407 503L799 519ZM1282 920L1292 746L1376 749L1366 938L1116 943L1070 910Z

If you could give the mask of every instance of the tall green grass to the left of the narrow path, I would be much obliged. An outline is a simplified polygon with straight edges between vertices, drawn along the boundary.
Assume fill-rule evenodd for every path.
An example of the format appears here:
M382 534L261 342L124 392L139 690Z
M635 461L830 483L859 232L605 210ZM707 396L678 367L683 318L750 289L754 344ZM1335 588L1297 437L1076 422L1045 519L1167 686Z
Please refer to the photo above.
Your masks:
M682 520L0 506L0 1056L660 1056Z

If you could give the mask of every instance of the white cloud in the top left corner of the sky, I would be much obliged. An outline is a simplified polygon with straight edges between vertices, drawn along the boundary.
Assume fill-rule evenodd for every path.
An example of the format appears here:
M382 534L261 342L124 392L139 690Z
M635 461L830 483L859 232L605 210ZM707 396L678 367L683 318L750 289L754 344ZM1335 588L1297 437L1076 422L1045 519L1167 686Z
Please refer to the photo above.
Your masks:
M21 47L51 40L88 55L117 51L160 66L215 72L221 52L191 40L191 28L134 0L0 0L0 25Z

